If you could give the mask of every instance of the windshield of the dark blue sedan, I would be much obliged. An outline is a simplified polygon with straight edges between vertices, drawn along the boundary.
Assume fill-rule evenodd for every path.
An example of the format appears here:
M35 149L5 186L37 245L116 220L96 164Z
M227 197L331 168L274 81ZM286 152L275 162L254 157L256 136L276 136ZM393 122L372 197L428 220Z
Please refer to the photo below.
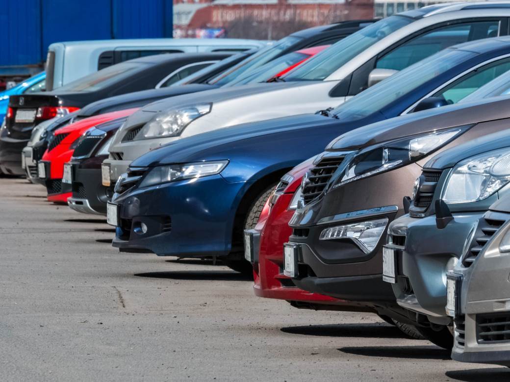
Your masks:
M350 98L331 113L347 120L364 118L474 56L476 53L467 50L442 50L427 60L419 61Z

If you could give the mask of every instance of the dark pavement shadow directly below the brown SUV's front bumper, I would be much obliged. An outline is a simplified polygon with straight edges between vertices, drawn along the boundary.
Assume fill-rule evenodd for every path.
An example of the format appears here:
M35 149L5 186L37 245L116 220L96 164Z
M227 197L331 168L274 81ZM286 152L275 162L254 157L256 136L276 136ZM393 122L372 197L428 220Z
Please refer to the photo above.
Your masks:
M399 329L387 324L336 324L283 327L282 332L304 336L407 338Z

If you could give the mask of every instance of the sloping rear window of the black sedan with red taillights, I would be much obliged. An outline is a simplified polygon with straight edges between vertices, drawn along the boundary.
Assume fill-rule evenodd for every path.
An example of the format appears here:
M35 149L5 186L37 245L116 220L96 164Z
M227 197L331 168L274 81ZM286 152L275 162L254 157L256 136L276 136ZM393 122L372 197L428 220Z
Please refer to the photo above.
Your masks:
M104 69L98 70L92 74L86 75L79 80L70 82L59 88L59 92L74 92L74 91L97 91L110 86L120 80L125 79L134 70L140 70L148 64L144 62L122 62L108 66Z

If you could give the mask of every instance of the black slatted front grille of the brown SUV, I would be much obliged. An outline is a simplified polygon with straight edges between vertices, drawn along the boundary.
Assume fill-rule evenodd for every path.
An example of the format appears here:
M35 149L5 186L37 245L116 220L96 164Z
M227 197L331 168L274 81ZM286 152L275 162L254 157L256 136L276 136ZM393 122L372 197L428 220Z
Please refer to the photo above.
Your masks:
M308 171L308 182L301 190L305 205L322 193L344 158L343 155L339 157L325 156Z

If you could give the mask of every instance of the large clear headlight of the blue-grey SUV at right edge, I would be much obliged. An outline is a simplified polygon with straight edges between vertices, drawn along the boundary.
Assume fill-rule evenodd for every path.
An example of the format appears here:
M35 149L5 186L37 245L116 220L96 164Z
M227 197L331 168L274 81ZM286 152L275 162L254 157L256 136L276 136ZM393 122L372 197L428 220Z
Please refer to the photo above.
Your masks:
M510 150L485 152L459 162L443 187L446 203L466 203L488 198L510 182Z

